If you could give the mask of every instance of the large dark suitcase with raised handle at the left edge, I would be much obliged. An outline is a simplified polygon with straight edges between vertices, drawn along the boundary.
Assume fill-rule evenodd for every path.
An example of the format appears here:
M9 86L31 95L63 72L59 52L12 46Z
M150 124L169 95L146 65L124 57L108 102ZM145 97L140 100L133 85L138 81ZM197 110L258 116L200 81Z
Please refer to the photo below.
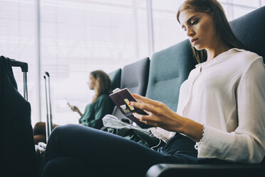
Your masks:
M17 89L12 67L21 67L24 97ZM27 72L28 64L0 56L0 173L4 176L36 176Z

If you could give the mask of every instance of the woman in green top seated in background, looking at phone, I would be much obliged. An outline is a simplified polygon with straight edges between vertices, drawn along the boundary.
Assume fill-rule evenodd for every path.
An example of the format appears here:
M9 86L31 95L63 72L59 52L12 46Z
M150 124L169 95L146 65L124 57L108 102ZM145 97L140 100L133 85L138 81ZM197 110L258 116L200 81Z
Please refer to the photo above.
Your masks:
M76 111L81 116L79 118L79 124L83 126L89 126L91 128L100 129L103 127L102 118L109 113L112 113L114 108L114 103L109 97L111 89L111 81L108 74L104 71L96 70L90 72L89 75L89 89L95 91L93 96L92 103L88 103L85 107L85 112L81 113L79 108L76 106L71 106L68 103L68 106L71 107L72 111ZM56 124L53 123L53 128ZM46 143L46 123L38 122L33 128L34 143L38 142Z

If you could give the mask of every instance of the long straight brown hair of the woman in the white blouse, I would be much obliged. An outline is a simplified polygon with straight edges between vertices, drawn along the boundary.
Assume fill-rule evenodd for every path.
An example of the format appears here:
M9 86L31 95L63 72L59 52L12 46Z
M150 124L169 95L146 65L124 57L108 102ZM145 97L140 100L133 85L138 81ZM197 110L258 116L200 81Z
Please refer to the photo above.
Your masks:
M177 21L180 23L180 12L189 9L194 12L203 12L212 16L217 34L219 34L224 44L229 48L246 49L241 42L234 36L234 33L227 21L227 16L224 13L224 9L217 0L186 0L177 11ZM192 47L195 58L198 63L202 63L207 60L207 51L205 49L197 51Z

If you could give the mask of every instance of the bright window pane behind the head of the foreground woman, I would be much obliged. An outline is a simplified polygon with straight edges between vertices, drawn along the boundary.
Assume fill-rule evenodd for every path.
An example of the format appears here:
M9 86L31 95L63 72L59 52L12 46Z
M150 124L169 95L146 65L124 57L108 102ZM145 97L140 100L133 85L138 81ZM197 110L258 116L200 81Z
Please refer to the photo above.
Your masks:
M265 0L254 0L251 3L249 0L219 0L219 2L224 7L229 21L265 5ZM181 4L182 0L152 0L155 51L187 39L176 18Z

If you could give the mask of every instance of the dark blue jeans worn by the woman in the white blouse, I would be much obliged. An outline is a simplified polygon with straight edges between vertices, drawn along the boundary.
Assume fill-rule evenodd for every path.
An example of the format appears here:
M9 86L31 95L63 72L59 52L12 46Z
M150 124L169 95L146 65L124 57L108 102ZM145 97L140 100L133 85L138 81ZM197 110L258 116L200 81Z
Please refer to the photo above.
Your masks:
M58 126L48 139L41 176L145 176L157 163L197 163L193 145L158 152L94 128Z

